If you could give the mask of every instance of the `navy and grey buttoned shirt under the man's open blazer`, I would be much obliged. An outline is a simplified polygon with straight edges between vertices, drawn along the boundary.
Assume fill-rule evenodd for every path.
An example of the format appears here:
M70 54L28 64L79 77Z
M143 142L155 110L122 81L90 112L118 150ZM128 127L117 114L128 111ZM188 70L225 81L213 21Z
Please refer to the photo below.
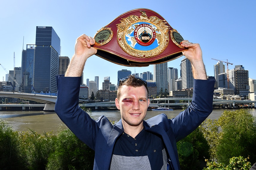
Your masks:
M110 170L167 169L167 154L162 138L144 128L135 137L123 133L114 146Z

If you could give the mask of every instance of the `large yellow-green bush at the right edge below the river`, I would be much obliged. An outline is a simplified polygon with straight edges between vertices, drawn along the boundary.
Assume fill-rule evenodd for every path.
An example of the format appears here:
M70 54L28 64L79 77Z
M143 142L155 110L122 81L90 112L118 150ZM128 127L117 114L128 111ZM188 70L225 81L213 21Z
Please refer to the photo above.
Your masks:
M217 145L217 159L228 163L231 157L250 157L256 162L256 123L248 110L224 111L218 120L222 128L222 137Z

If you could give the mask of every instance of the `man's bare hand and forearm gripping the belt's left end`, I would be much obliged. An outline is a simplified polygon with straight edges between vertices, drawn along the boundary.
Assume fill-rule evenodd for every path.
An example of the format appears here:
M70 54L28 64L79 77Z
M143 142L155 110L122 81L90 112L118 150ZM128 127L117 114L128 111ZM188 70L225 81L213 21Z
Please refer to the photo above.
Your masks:
M75 55L67 68L65 77L80 77L86 60L97 53L97 49L91 47L95 39L85 34L77 38L75 43Z

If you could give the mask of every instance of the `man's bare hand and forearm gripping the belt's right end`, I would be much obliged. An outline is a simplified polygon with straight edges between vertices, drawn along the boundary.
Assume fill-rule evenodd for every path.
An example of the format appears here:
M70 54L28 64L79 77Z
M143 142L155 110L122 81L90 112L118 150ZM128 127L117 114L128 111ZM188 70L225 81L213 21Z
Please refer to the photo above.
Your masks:
M207 80L200 45L183 40L181 46L188 48L187 51L182 53L191 62L194 79Z

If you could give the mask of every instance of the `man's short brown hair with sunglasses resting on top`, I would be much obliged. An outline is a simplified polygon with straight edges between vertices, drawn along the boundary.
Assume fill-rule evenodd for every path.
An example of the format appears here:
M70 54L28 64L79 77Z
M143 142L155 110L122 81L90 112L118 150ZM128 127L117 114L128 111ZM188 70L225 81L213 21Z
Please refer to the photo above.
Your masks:
M129 77L125 77L121 80L119 80L119 86L117 88L117 95L116 98L119 100L121 96L121 88L123 85L132 86L132 87L141 87L145 86L147 90L147 97L148 97L148 87L147 87L147 81L143 80L140 77L135 77L134 75L129 75Z

